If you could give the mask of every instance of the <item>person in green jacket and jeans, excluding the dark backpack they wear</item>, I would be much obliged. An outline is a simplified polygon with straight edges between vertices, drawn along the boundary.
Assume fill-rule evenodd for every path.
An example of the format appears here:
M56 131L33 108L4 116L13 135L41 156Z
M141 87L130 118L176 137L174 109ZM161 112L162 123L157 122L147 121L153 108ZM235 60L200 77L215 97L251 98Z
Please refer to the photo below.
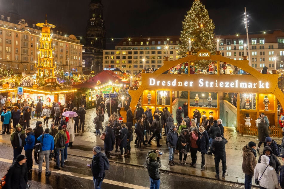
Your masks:
M63 147L59 146L60 135L64 135L65 141L67 141L67 135L62 130L62 126L58 127L58 133L54 137L54 144L55 144L55 150L56 150L56 166L54 168L56 168L56 169L60 169L60 166L59 166L59 163L60 163L59 153L61 153L61 167L64 167L64 148L65 148L65 145Z

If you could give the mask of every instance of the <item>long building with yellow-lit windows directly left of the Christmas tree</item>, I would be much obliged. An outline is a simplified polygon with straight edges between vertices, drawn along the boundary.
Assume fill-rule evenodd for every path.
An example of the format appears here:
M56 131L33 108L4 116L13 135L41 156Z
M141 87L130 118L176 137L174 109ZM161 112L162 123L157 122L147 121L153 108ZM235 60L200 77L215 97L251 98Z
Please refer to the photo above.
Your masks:
M164 57L179 59L179 36L132 37L122 39L114 50L103 50L103 68L119 68L137 74L145 67L158 69Z

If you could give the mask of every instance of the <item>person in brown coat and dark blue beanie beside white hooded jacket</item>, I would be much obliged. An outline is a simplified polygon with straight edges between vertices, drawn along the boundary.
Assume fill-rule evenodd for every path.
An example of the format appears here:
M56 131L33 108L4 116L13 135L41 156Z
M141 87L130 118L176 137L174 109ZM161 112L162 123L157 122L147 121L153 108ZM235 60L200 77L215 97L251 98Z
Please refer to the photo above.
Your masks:
M257 165L255 142L249 142L242 148L242 172L245 173L245 189L251 188L254 168Z

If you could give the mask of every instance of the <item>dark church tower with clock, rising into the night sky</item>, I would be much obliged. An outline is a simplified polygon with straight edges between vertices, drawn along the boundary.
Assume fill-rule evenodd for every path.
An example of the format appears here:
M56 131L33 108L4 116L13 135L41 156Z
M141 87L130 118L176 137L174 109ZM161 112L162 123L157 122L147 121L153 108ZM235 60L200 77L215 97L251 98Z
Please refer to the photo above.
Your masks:
M105 23L101 0L91 0L86 27L86 43L83 47L83 70L102 71L102 50L105 49ZM85 64L84 64L85 61Z

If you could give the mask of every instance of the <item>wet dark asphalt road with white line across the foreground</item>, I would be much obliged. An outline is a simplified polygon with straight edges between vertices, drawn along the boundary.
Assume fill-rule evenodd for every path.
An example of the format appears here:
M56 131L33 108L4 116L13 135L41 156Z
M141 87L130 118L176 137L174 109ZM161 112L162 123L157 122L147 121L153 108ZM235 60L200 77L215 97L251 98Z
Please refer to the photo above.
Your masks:
M7 173L7 169L10 167L11 163L7 161L13 159L12 147L0 145L0 176L4 176ZM24 152L22 153L24 154ZM90 180L92 176L90 168L85 166L90 164L90 159L81 157L68 157L68 161L65 162L65 167L61 168L61 173L56 173L56 169L53 167L56 163L52 160L50 161L51 175L46 177L44 171L42 176L38 176L38 169L34 167L33 173L29 175L29 184L31 188L93 188L93 181ZM36 164L37 165L37 164ZM45 163L43 164L45 166ZM80 177L74 176L78 175ZM140 187L150 187L148 171L146 168L124 165L119 163L111 163L110 170L106 171L105 182L102 188L128 188L122 185L116 185L116 182L128 183L133 186L132 188ZM160 188L243 188L243 185L231 184L228 182L222 182L211 179L203 179L187 175L179 175L175 173L161 173L161 186Z

